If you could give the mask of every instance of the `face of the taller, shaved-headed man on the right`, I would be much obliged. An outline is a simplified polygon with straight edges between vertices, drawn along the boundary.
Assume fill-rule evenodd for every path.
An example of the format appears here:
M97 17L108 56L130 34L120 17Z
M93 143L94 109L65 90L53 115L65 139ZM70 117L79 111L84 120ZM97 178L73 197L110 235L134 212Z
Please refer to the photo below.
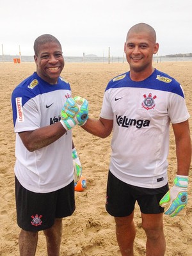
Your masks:
M151 68L153 54L156 54L158 49L159 44L154 42L149 33L130 33L124 45L130 70L142 72L147 68Z

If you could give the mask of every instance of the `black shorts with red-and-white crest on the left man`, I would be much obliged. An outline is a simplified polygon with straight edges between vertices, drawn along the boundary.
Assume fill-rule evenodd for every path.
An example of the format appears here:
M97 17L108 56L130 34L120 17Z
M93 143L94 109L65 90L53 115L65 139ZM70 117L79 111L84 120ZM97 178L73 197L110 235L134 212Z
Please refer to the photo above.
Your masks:
M74 181L50 193L34 193L21 186L15 177L17 224L26 231L52 227L56 218L72 215L76 209Z

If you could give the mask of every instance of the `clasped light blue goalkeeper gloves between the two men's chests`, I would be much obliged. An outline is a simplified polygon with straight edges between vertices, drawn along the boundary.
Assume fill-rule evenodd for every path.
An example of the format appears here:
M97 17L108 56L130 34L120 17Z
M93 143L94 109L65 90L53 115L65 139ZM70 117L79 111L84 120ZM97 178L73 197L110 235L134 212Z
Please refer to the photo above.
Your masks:
M88 119L88 101L76 96L68 98L61 110L61 124L66 131L75 125L84 125Z

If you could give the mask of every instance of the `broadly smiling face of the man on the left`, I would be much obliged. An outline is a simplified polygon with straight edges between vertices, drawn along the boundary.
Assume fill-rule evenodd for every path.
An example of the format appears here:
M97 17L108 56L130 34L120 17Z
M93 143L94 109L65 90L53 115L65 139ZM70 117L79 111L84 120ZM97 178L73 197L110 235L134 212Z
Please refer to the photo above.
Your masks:
M65 65L60 45L49 42L38 47L38 56L34 56L36 72L49 84L58 83L58 77Z

